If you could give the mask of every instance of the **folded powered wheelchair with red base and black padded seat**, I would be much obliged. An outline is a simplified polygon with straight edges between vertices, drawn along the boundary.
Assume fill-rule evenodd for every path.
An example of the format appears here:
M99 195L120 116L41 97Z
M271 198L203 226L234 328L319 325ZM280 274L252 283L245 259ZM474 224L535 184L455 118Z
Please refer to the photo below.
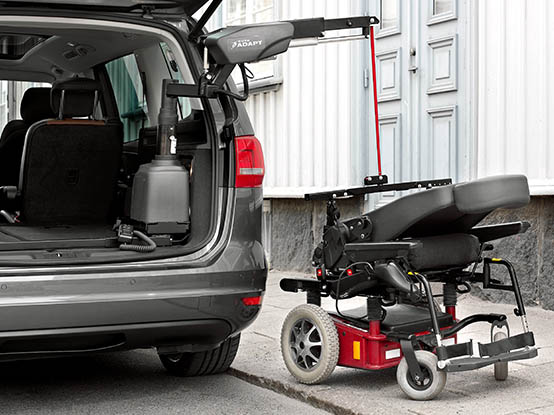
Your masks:
M307 292L308 304L288 314L281 332L291 374L315 384L337 364L371 370L398 366L400 388L412 399L429 400L444 388L448 372L493 364L496 379L504 380L509 361L537 356L514 267L486 255L493 249L490 241L523 233L529 224L476 226L495 209L529 203L525 176L460 184L449 179L372 184L375 180L383 177L366 178L363 187L306 195L327 199L327 222L313 256L317 278L280 282L285 291ZM410 188L425 190L340 220L337 197ZM503 269L509 282L493 278L493 267ZM436 283L442 284L440 295L432 291ZM510 334L502 314L457 318L458 295L475 283L513 292L521 334ZM365 297L363 307L339 311L339 300L358 296ZM444 308L435 300L439 296ZM324 311L321 297L334 299L336 311ZM458 343L457 333L477 322L490 323L491 342Z

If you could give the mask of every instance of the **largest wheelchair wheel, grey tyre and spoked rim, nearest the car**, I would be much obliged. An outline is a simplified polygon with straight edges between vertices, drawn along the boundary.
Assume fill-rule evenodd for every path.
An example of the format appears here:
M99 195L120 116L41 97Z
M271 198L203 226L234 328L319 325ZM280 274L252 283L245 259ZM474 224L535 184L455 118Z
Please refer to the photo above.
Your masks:
M339 360L339 336L329 314L313 304L292 309L281 330L281 353L299 382L327 379Z

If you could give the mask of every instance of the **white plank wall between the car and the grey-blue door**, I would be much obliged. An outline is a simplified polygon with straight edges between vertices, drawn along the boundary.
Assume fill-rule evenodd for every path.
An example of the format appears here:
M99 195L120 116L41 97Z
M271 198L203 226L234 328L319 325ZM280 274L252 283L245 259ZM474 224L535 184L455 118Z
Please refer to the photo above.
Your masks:
M279 19L363 14L363 0L283 0ZM332 36L332 33L326 36ZM290 49L282 57L283 84L247 101L266 163L266 197L301 197L306 192L359 185L368 174L360 160L369 140L361 104L369 94L353 68L369 42L339 42ZM366 133L367 134L367 133Z

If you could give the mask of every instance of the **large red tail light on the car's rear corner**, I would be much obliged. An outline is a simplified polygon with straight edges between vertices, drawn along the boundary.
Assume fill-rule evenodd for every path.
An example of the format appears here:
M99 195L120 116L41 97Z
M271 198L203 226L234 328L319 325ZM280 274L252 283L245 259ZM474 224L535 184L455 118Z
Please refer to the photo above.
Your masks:
M265 166L262 145L254 136L235 138L235 186L262 187Z

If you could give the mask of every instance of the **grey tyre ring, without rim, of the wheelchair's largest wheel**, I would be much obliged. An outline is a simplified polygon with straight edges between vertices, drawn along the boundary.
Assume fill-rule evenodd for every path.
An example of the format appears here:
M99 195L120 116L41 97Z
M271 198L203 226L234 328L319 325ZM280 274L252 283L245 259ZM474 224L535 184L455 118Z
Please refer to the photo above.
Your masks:
M293 327L301 320L306 320L317 328L321 335L319 363L311 369L300 367L290 347ZM308 385L317 384L327 379L339 360L339 335L333 319L329 314L314 304L302 304L293 308L281 329L281 354L287 369L296 380Z

